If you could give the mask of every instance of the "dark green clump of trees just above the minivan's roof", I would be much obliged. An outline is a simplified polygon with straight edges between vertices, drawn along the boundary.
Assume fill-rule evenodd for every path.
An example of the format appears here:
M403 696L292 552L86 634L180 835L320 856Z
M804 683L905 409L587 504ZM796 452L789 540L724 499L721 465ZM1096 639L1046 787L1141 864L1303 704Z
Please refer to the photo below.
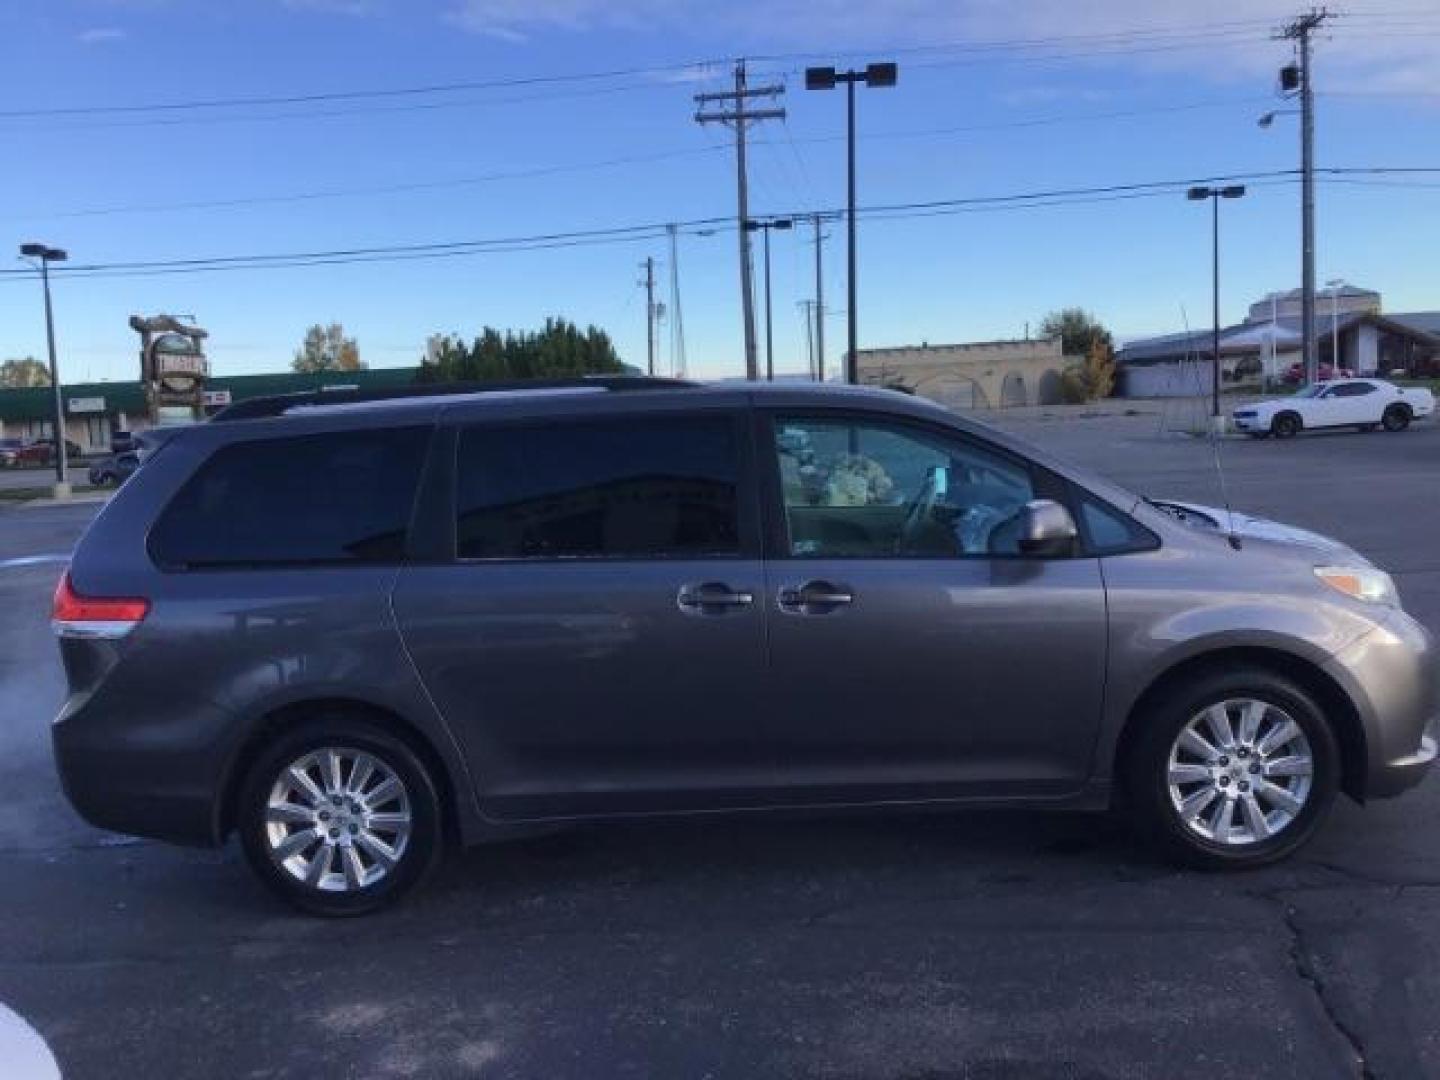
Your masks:
M573 379L583 374L619 374L619 353L603 330L563 318L547 318L539 331L500 331L485 327L465 344L461 337L439 338L420 364L422 383L485 383L518 379Z

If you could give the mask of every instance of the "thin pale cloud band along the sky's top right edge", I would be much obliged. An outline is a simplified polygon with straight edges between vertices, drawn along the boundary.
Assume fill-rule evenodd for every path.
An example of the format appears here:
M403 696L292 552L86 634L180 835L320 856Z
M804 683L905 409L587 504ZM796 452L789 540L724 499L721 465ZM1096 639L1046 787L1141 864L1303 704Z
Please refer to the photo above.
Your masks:
M945 58L948 43L1030 40L1037 45L1024 52L1037 59L1123 63L1212 79L1273 76L1289 58L1289 46L1273 40L1272 32L1303 6L1296 0L1223 6L1194 0L445 1L451 23L504 40L619 30L683 37L719 55L890 46L935 48L935 59ZM1060 40L1040 45L1044 39ZM912 59L923 62L924 53ZM1316 62L1331 91L1433 92L1433 72L1440 69L1440 0L1405 0L1401 10L1390 0L1346 6L1316 36Z

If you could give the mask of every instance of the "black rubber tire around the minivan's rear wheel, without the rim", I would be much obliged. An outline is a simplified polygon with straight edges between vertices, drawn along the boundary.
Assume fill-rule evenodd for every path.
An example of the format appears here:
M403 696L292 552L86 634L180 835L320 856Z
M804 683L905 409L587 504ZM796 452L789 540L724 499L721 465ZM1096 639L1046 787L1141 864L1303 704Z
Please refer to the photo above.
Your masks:
M344 891L307 884L295 873L281 865L272 855L266 824L271 792L281 780L282 773L305 755L328 747L369 755L387 769L403 785L403 808L410 816L409 835L403 845L396 845L400 848L399 858L384 871L383 877L367 884L347 887ZM354 772L350 773L350 778L354 778ZM395 806L397 804L384 805ZM318 717L304 723L284 732L268 744L251 765L240 783L235 822L245 857L261 881L302 912L331 917L366 914L395 903L431 874L439 863L444 848L439 793L435 778L431 776L420 757L382 724L343 714ZM315 828L320 828L318 824ZM295 832L300 831L308 831L308 827L304 829L295 827ZM340 829L331 831L330 835L337 832ZM317 838L312 850L318 851L321 842ZM344 842L344 840L338 842ZM357 851L364 851L364 848L357 845ZM333 858L336 864L343 867L346 860L340 848L336 848ZM333 864L327 863L327 865ZM373 865L380 864L376 861Z

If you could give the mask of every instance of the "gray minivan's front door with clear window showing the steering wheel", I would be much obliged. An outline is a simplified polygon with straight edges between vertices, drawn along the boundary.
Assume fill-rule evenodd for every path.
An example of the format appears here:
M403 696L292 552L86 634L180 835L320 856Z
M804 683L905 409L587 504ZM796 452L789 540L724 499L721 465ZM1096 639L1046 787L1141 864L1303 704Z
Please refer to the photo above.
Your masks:
M766 595L780 783L798 802L1047 795L1100 720L1096 559L1018 552L1063 484L948 426L773 412Z

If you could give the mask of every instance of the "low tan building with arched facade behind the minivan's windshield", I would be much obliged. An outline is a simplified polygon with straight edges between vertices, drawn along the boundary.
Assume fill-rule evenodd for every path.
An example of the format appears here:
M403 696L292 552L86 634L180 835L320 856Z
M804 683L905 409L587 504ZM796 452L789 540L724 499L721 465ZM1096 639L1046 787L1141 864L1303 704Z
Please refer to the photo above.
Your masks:
M1008 409L1058 403L1071 360L1079 357L1066 357L1060 338L919 344L861 348L857 373L867 386L904 389L950 409Z

